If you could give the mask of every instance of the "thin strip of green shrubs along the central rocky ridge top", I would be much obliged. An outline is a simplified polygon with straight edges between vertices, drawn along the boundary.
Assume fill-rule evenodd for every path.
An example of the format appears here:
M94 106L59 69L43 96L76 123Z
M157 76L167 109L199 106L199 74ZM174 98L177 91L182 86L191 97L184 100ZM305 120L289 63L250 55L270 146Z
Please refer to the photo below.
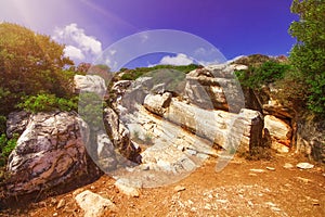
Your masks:
M184 74L190 73L191 71L194 71L196 68L200 67L199 65L196 64L190 64L190 65L156 65L154 67L138 67L134 69L127 69L127 68L121 68L120 73L123 73L121 76L122 80L135 80L136 78L152 72L152 71L157 71L157 69L176 69L180 71Z

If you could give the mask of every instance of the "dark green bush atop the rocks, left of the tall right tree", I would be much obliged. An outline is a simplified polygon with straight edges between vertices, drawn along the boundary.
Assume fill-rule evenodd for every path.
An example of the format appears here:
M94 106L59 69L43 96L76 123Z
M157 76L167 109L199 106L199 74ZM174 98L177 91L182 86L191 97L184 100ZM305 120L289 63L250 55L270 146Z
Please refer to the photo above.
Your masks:
M263 85L282 79L289 69L288 64L266 61L260 66L250 65L247 71L237 71L235 74L244 87L259 89Z

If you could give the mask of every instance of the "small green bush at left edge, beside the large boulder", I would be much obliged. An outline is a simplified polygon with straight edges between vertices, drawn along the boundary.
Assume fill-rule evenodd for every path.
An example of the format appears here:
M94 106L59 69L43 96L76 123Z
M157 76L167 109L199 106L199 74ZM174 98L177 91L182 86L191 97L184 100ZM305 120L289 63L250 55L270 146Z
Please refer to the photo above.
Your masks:
M6 164L8 157L11 152L15 149L18 140L18 135L13 135L12 139L8 139L5 133L0 136L0 167Z

